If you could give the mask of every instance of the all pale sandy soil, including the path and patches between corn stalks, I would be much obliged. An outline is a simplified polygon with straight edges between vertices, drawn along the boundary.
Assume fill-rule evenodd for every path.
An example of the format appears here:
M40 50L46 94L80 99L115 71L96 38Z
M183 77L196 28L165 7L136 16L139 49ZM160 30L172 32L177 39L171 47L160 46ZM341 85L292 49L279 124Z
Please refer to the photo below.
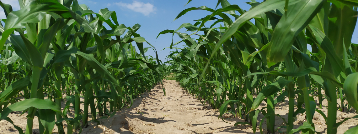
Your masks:
M203 105L195 97L184 91L175 81L163 81L166 89L166 96L164 96L161 85L156 86L149 93L144 93L135 99L134 104L130 108L122 108L115 115L109 118L101 118L100 125L95 122L89 122L89 126L83 128L82 133L252 133L250 125L234 126L236 122L243 122L239 118L232 117L230 114L225 116L225 123L222 119L218 119L219 112L212 109L210 106ZM339 102L339 99L338 101ZM326 100L323 101L326 105ZM258 109L266 107L262 103ZM83 108L83 106L82 106ZM81 108L81 109L82 109ZM287 120L288 117L288 101L281 102L275 107L275 114L280 114L282 118ZM327 109L320 109L327 115ZM89 113L89 120L91 120L91 113ZM21 116L20 112L11 113L9 117L16 125L25 129L26 115ZM348 112L337 111L337 122L344 118L353 117L357 115L355 110ZM73 115L69 115L73 116ZM262 114L258 116L258 122L263 118ZM294 128L298 128L305 121L305 115L297 115L294 122ZM34 132L38 133L37 118L34 119ZM313 123L315 123L316 131L319 133L326 133L327 126L324 118L317 112L314 114ZM283 120L276 117L276 127L284 125ZM338 127L337 133L344 133L347 129L357 125L357 119L349 119ZM0 133L18 133L16 129L5 120L1 121ZM66 124L64 123L64 126ZM265 130L266 120L263 122L263 132ZM279 129L285 131L285 129ZM55 126L53 132L57 131ZM65 127L65 132L67 132ZM77 131L78 133L78 131ZM260 133L257 129L256 133ZM279 132L276 132L279 133Z

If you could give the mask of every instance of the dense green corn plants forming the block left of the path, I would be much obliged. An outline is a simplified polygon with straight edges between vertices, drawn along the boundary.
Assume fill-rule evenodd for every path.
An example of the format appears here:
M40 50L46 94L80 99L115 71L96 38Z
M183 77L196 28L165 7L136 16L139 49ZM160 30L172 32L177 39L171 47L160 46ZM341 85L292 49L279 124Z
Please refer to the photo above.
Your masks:
M54 125L58 133L65 133L62 121L67 123L67 133L73 133L87 126L89 107L92 121L98 122L96 109L100 116L112 115L161 81L163 68L158 56L153 60L144 55L149 48L143 47L148 42L136 33L139 24L120 25L116 12L105 8L95 13L77 1L19 4L21 9L12 11L0 1L6 15L5 25L0 26L1 120L13 124L10 112L28 111L25 133L33 133L35 116L40 133L52 133ZM64 95L67 102L61 110ZM74 108L74 118L67 116L69 107Z

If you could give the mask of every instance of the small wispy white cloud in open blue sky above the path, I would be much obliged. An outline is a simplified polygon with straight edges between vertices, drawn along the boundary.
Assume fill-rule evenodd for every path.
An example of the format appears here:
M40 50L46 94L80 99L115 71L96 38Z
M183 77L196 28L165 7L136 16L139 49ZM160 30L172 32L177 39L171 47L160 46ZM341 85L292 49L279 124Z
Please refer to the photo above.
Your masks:
M154 5L150 4L149 2L144 3L144 2L133 1L132 4L127 4L122 2L116 2L115 4L135 12L140 12L145 16L148 16L150 13L155 14L156 11L156 7L154 7Z

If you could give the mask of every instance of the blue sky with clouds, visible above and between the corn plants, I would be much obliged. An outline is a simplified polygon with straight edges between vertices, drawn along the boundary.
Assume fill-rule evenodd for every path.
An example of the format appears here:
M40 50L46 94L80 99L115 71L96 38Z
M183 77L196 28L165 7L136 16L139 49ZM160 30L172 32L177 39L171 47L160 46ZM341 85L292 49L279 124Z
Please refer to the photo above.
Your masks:
M20 9L17 0L3 2L12 5L15 11ZM156 48L158 51L159 59L162 62L166 61L165 58L170 52L170 49L168 48L165 50L163 49L170 46L172 41L172 34L167 33L156 38L158 33L166 29L176 30L184 23L194 24L196 22L194 20L201 19L207 15L210 15L211 13L204 10L193 10L188 12L188 14L183 15L179 19L173 21L175 17L184 9L203 5L215 9L217 4L217 0L193 0L189 4L187 4L188 0L79 0L78 2L79 4L87 5L90 10L96 13L98 13L100 9L106 7L110 11L116 11L119 24L124 24L126 26L140 24L141 27L137 33L139 33ZM249 1L229 0L230 4L236 4L243 10L249 10L251 6L245 2ZM187 5L184 7L185 4ZM219 5L218 8L221 8L221 5ZM0 18L4 19L5 15L2 8L0 13ZM185 29L182 29L179 32L185 32ZM192 32L187 33L190 34ZM193 38L195 38L195 36ZM356 25L352 37L352 43L357 43L357 39L358 37ZM179 36L174 35L174 43L178 41L180 41ZM178 45L178 47L182 47L181 45L184 44L181 43ZM144 47L150 46L145 43ZM155 58L155 52L152 50L148 50L145 55L151 55L153 58Z

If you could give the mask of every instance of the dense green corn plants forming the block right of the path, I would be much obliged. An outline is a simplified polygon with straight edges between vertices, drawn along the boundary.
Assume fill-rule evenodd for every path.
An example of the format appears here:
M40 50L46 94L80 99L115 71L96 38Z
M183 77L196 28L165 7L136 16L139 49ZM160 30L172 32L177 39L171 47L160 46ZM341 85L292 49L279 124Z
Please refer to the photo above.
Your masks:
M341 100L341 110L346 107L344 99L349 103L348 109L357 104L357 44L350 42L357 23L357 1L252 1L247 4L252 6L249 11L228 1L218 1L217 6L222 8L216 10L191 7L175 19L191 10L206 10L211 14L196 20L194 25L187 23L177 30L159 33L173 33L173 36L176 33L183 39L172 42L169 47L176 50L171 51L169 57L173 59L171 66L175 68L177 81L197 98L218 108L220 116L229 112L234 117L245 118L247 122L235 125L250 124L254 133L257 126L262 133L265 119L267 131L277 131L275 117L280 115L275 114L275 106L286 97L289 113L287 119L282 118L286 133L315 133L312 122L315 112L326 119L327 133L337 133L338 126L350 119L336 122L337 98ZM205 26L211 20L214 22L210 27ZM193 33L178 32L182 28ZM199 35L199 31L204 35ZM199 38L192 38L194 35ZM186 46L173 47L180 42ZM308 51L308 44L312 52ZM323 99L328 100L327 116L316 109L313 93L319 97L320 108ZM267 107L257 109L263 101ZM264 117L257 124L260 113ZM297 114L305 114L306 121L293 129ZM357 127L347 133L356 131Z

